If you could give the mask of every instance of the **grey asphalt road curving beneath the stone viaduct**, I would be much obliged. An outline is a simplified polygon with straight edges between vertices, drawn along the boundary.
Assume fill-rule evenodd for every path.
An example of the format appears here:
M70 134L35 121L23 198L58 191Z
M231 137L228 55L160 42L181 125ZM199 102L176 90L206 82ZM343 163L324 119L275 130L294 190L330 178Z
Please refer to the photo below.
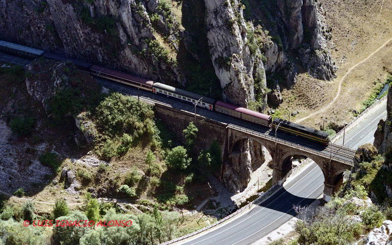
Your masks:
M356 149L359 145L372 143L374 132L381 118L386 118L386 102L369 111L361 121L345 133L344 145ZM340 137L336 144L342 144ZM284 183L283 187L256 208L246 211L233 221L226 221L217 228L179 244L185 245L243 245L252 244L277 229L295 216L293 205L309 205L322 195L324 176L321 169L313 161L309 163L295 178Z

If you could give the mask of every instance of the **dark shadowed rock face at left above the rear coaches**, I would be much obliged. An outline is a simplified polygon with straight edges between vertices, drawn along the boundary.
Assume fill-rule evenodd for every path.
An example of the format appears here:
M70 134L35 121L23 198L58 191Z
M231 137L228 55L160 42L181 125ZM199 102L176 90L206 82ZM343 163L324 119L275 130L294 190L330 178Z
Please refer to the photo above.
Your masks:
M181 33L165 24L166 17L157 9L158 4L159 0L74 4L62 0L1 1L0 39L121 68L141 77L184 84L176 62L141 54L149 50L146 40L156 40L149 14L158 14L157 25L163 23L161 31L169 33L170 41L178 46ZM113 30L89 23L99 16L115 19Z

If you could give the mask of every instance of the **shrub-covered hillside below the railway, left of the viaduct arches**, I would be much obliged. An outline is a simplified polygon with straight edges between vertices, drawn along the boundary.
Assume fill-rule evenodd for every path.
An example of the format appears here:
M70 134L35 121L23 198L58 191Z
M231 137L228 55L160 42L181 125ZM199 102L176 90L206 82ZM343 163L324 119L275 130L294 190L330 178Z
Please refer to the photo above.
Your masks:
M1 147L13 149L9 156L21 165L36 164L33 172L4 172L4 183L14 184L1 191L22 197L1 195L0 237L7 244L91 244L97 237L107 244L156 244L216 220L184 215L211 195L206 177L222 164L216 142L200 155L194 151L198 129L193 123L183 130L182 143L155 118L151 105L120 93L101 93L72 64L36 60L29 67L0 68L0 82L7 88L1 91L6 98L1 120L9 127L2 124L1 133L10 134ZM37 101L42 93L48 97ZM18 167L1 161L10 164L9 170ZM34 172L40 168L45 172ZM23 199L32 195L33 202ZM29 227L20 233L23 220L97 223L113 217L131 219L132 226L115 231ZM65 236L65 231L73 235Z

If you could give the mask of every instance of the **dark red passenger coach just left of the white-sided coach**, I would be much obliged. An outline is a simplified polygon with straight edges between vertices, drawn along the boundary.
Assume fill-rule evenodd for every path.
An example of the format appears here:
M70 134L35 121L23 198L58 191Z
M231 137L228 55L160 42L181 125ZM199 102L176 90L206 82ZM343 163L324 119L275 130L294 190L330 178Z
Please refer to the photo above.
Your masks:
M144 78L138 78L126 73L113 71L102 66L92 65L90 68L91 75L105 78L111 81L121 82L133 87L152 91L154 82Z

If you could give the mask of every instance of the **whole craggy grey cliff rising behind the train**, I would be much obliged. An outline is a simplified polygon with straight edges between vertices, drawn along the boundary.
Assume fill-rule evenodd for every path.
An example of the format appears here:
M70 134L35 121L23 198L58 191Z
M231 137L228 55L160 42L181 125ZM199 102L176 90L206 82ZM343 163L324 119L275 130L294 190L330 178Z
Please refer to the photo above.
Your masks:
M261 110L268 92L272 104L282 101L280 87L295 82L299 66L320 79L334 76L314 0L243 5L249 2L0 1L0 39ZM253 7L265 11L249 17ZM289 61L289 51L301 63Z

